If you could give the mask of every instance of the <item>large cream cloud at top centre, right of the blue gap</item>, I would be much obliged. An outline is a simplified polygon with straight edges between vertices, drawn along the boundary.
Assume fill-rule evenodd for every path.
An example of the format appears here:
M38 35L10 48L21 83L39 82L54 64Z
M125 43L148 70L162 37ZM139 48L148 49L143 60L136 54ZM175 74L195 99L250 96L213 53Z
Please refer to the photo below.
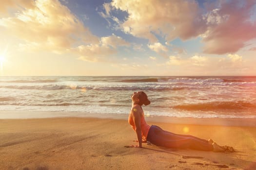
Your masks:
M150 43L158 41L155 34L166 40L176 37L185 40L206 29L196 1L113 0L108 4L104 5L106 13L102 16L112 17L109 10L126 11L128 17L120 23L120 28L127 34L149 39Z

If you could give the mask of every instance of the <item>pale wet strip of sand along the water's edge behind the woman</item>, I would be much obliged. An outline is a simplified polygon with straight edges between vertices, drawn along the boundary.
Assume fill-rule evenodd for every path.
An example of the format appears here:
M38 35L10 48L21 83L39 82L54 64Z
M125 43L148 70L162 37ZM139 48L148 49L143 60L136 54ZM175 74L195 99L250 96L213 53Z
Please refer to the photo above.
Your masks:
M128 114L102 114L85 112L46 112L46 111L0 111L1 119L47 119L47 118L98 118L127 120ZM256 127L253 118L184 118L168 116L145 116L148 122L219 125L219 126L247 126Z

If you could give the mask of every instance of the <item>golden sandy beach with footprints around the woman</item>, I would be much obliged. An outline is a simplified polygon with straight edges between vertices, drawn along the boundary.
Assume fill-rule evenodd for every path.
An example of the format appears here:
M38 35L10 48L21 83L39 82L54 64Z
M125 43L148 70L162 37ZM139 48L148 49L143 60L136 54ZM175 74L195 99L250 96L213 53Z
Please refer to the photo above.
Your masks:
M125 148L136 143L127 115L90 117L93 114L84 118L0 119L0 170L256 169L255 119L146 118L165 130L212 138L236 150L214 153L147 143L143 148Z

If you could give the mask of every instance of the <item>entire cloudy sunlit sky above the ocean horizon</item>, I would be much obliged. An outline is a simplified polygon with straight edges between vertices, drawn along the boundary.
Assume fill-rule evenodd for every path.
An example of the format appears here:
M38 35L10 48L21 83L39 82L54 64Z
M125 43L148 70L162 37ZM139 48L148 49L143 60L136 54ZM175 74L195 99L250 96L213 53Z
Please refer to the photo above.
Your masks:
M256 0L0 0L0 76L256 76Z

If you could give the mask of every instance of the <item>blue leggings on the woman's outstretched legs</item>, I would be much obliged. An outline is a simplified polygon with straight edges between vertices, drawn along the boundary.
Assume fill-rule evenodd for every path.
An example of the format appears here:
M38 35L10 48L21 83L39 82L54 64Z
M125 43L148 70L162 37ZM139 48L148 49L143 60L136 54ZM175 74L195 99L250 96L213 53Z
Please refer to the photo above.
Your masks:
M208 140L191 135L179 135L162 130L152 125L149 129L147 141L154 145L167 148L195 149L201 151L212 151L213 145Z

